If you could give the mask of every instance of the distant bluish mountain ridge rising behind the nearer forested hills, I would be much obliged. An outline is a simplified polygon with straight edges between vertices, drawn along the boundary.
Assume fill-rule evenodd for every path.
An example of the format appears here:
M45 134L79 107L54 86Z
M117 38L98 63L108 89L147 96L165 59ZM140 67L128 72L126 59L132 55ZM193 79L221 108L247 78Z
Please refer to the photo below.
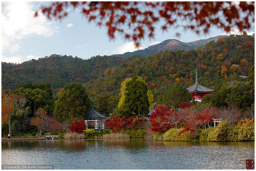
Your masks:
M148 48L145 48L143 50L136 50L134 52L126 52L123 54L115 54L111 56L122 56L122 57L129 57L132 55L152 55L154 53L160 52L160 51L165 51L165 50L175 50L175 49L185 49L185 50L191 50L191 49L196 49L198 46L202 47L206 43L209 43L210 41L214 40L217 41L220 37L228 37L227 35L219 35L215 37L210 37L208 39L201 39L201 40L196 40L193 42L181 42L177 39L167 39L164 40L161 43L149 46Z

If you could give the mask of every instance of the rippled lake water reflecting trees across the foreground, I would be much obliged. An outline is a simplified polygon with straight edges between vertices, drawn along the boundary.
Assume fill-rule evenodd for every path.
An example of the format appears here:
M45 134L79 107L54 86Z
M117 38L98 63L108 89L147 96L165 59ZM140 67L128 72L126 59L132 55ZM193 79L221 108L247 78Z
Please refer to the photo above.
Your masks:
M254 160L254 141L2 141L2 165L55 169L246 169L247 159Z

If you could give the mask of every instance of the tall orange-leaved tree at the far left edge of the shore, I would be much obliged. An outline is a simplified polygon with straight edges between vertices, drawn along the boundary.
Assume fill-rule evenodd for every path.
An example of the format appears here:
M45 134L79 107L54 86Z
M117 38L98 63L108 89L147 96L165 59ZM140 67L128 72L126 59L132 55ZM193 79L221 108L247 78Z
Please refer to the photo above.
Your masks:
M14 103L14 95L5 93L2 87L2 122L6 122L9 126L9 134L11 134L11 113Z

